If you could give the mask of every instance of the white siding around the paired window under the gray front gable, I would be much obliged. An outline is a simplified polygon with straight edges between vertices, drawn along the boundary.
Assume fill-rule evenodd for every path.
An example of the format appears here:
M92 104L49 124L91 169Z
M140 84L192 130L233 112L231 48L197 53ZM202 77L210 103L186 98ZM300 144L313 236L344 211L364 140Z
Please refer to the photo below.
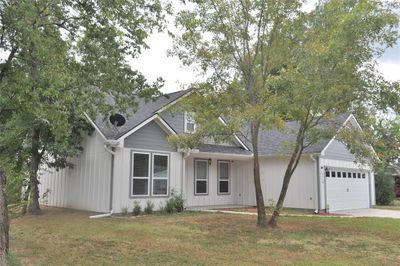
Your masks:
M130 195L131 186L131 165L132 152L155 152L168 153L170 156L169 169L169 188L174 189L178 193L181 192L182 182L182 154L178 152L169 152L163 150L151 149L135 149L135 148L117 148L114 163L114 187L113 187L113 211L121 212L122 208L132 210L134 202L140 203L142 209L146 206L146 201L150 200L154 203L155 209L165 206L168 197L132 197Z

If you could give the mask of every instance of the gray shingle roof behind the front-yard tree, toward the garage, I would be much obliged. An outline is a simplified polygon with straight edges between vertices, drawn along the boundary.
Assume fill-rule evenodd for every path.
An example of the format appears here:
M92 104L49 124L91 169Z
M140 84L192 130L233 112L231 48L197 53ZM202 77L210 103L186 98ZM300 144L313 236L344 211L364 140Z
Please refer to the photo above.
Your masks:
M328 129L336 129L338 130L350 114L345 113L337 116L336 118L323 121L320 123L322 128ZM299 128L299 122L297 121L289 121L286 122L285 129L282 131L279 130L260 130L259 135L259 151L260 155L263 156L277 156L277 155L287 155L290 153L290 145L293 144L296 140L296 133ZM245 128L242 130L241 134L238 134L238 137L246 144L246 146L252 150L251 145L251 134L250 129ZM326 139L320 141L318 143L312 144L308 146L304 153L320 153L322 150L328 145L330 139Z

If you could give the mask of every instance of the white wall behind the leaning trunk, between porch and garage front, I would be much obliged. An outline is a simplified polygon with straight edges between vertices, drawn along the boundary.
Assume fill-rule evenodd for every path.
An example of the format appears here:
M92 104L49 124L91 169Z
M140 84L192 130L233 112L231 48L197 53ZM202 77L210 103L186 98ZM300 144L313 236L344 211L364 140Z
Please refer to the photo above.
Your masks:
M261 159L261 185L264 201L276 203L278 200L283 176L288 164L285 157L264 157ZM310 156L303 156L293 173L284 206L291 208L317 208L316 164Z

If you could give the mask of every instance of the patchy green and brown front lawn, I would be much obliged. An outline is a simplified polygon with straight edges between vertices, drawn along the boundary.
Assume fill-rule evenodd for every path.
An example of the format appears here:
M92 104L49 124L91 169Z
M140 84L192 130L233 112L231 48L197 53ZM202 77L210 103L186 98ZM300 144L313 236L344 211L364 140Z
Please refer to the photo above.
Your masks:
M45 209L12 220L22 265L396 265L400 220L282 217L256 228L250 215L186 212L89 219Z

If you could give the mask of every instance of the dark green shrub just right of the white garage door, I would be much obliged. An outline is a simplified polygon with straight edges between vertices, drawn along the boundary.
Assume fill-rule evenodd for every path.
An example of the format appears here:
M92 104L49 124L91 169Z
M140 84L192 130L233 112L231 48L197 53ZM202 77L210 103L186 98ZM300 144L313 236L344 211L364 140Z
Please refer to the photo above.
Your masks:
M385 172L375 176L376 204L390 205L395 198L394 178Z

